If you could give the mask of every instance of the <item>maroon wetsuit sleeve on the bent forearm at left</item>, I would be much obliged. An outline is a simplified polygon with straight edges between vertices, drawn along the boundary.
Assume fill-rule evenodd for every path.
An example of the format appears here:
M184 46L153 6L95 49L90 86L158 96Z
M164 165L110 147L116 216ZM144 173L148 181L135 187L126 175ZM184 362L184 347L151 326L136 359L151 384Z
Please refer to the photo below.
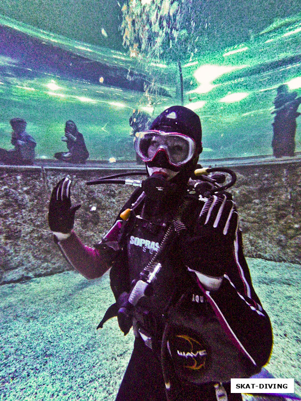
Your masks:
M87 279L101 277L112 265L111 254L84 245L74 232L66 240L56 242L71 266Z

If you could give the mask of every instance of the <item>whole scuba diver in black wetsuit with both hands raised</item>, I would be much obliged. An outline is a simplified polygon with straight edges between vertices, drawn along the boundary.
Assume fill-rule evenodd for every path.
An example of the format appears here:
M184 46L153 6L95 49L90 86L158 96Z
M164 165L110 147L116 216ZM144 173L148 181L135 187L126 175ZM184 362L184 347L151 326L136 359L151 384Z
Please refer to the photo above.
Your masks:
M252 286L231 194L192 179L202 151L199 116L166 109L137 135L135 150L148 177L93 248L72 230L80 204L71 204L68 177L54 187L48 215L55 242L83 276L111 268L116 302L98 327L117 316L124 335L133 328L116 401L241 401L230 379L267 363L271 325Z

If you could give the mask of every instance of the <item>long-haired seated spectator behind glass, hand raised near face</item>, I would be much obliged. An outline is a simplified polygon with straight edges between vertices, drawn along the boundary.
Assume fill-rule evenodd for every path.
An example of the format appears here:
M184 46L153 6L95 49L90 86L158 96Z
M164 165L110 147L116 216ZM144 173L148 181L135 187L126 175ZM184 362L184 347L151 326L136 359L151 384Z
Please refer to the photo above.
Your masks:
M54 157L69 163L84 164L89 157L83 134L78 132L74 121L68 120L65 125L65 136L62 141L67 143L68 152L57 152Z

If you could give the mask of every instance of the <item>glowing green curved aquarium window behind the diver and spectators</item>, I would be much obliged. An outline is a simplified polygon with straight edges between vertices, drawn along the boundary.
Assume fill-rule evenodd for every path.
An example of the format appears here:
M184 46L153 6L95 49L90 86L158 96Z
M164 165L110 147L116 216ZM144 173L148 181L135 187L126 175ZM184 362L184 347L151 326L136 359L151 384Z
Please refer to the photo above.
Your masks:
M38 158L66 150L64 123L74 120L90 159L133 160L128 119L155 118L181 104L177 63L137 62L0 17L0 147L10 146L9 120L28 121ZM301 93L301 14L267 26L249 41L182 61L184 105L200 116L204 158L272 154L273 100L287 84ZM153 64L150 68L150 64ZM156 86L156 91L148 90ZM153 88L154 89L154 88ZM301 124L295 135L301 151Z

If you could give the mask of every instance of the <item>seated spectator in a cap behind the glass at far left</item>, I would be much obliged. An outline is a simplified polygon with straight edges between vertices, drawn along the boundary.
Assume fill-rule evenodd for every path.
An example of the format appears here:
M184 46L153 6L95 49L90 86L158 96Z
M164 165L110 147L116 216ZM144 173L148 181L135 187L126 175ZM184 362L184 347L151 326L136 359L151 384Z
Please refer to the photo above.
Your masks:
M11 143L14 149L0 148L0 161L5 164L32 165L35 159L37 142L26 132L27 122L23 118L12 118L13 128Z

